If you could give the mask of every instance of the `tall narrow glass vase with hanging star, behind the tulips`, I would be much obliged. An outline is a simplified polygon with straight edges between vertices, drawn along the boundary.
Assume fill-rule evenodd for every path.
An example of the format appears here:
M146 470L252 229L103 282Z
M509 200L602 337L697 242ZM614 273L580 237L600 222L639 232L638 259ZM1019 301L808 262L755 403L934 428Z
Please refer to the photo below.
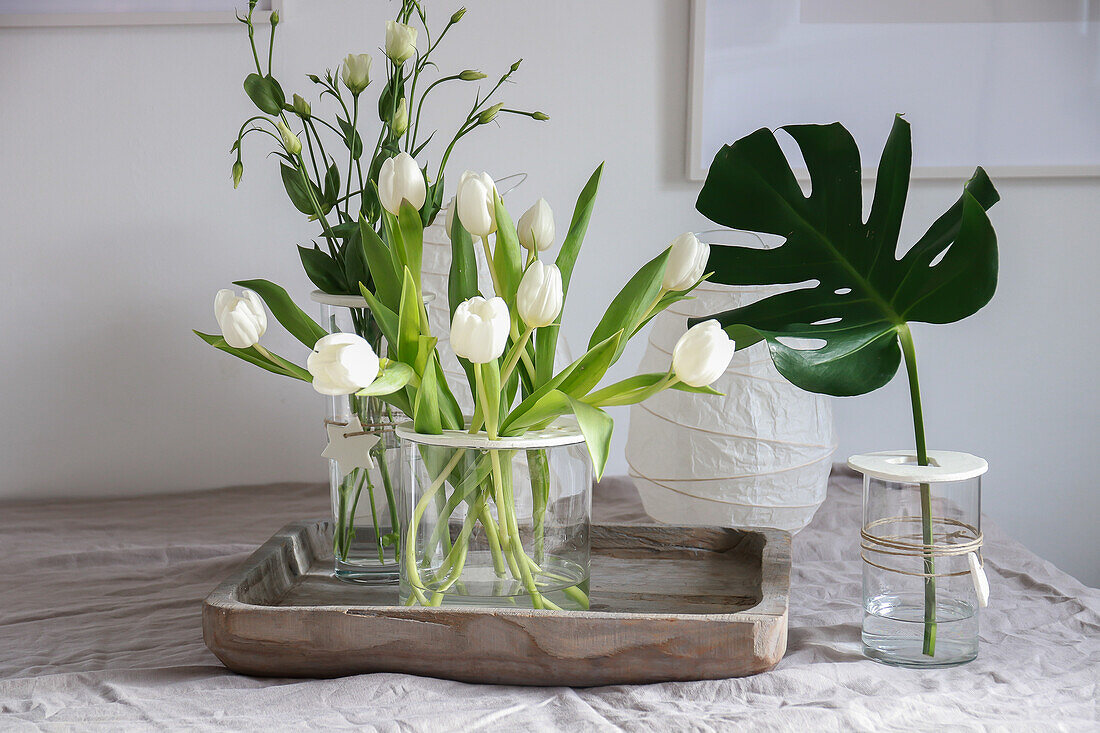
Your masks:
M314 291L321 304L321 325L330 333L355 333L385 355L378 330L366 300L354 295L329 295ZM349 426L377 437L370 448L373 468L341 467L329 460L332 497L333 573L349 582L393 584L397 582L398 501L396 489L397 437L394 427L407 416L377 397L341 395L326 397L324 424Z

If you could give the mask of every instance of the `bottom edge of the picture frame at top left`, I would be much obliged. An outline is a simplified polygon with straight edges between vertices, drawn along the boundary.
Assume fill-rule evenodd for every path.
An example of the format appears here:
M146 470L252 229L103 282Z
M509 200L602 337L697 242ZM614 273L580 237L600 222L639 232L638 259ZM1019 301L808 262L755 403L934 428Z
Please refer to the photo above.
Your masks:
M145 10L136 0L0 0L0 29L3 28L79 28L124 25L218 25L235 23L232 10L217 10L207 0L173 0L182 10ZM248 7L245 2L238 6ZM50 7L55 10L50 10ZM24 9L33 8L34 12ZM283 0L261 0L253 19L267 22L273 11L283 14Z

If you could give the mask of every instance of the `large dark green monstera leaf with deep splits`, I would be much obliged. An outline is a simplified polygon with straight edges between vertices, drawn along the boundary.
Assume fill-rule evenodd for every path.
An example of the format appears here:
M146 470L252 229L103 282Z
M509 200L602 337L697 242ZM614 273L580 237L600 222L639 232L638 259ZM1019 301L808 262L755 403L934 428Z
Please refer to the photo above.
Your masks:
M997 238L986 210L997 189L979 167L958 201L899 259L909 123L894 119L866 221L859 151L848 131L839 123L782 129L802 151L810 196L770 130L723 147L696 208L719 225L785 241L771 250L712 247L708 270L712 282L728 285L813 284L714 317L738 349L767 339L776 368L804 390L871 392L897 372L909 321L956 321L992 297Z

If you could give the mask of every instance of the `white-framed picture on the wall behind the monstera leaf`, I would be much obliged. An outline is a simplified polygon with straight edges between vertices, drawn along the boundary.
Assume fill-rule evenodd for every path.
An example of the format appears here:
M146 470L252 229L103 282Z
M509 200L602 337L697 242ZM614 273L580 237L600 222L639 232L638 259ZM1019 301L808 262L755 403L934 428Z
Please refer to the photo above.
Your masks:
M760 127L843 120L881 150L895 112L913 123L914 178L978 164L996 178L1100 176L1096 33L1100 9L1071 0L692 0L688 178Z

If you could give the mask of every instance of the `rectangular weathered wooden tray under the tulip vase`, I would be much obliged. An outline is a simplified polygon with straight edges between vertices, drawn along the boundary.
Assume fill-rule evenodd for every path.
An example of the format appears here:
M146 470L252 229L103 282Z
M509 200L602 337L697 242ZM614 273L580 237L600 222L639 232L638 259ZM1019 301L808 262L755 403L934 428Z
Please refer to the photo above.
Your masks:
M771 669L787 649L791 536L592 528L592 609L402 608L331 576L331 523L296 522L206 599L227 667L265 677L393 671L469 682L622 685Z

